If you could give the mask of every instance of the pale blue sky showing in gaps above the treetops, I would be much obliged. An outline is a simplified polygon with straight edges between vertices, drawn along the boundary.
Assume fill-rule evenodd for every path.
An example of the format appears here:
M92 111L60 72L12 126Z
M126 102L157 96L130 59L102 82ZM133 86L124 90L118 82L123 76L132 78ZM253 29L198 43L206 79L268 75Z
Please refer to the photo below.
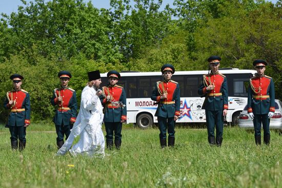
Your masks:
M26 0L26 2L30 2L31 0ZM84 2L91 1L94 7L100 8L110 8L110 0L84 0ZM133 2L133 1L132 1ZM270 0L269 0L270 2ZM277 0L271 0L272 3L276 3ZM164 9L167 4L172 6L173 0L163 0L163 5L161 9ZM17 7L23 5L21 0L0 0L0 13L6 13L10 15L12 12L17 11Z

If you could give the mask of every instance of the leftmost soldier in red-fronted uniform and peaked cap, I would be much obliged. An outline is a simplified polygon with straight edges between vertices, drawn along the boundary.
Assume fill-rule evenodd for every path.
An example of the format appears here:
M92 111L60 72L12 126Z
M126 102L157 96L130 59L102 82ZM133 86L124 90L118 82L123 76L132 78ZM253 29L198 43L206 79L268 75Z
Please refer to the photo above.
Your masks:
M13 74L10 79L13 80L14 90L7 92L4 102L4 107L10 110L7 126L11 133L12 149L22 151L26 147L26 128L30 124L30 97L21 87L22 75Z

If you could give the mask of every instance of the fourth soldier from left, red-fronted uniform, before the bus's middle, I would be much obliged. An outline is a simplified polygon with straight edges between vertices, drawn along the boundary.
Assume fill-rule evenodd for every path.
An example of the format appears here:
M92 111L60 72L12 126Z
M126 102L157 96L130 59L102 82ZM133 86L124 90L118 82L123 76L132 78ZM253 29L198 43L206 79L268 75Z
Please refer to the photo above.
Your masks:
M180 115L180 89L179 84L171 79L175 72L171 64L165 64L160 69L163 74L163 80L157 81L151 95L151 99L158 102L155 113L159 125L160 147L173 147L175 142L175 121Z

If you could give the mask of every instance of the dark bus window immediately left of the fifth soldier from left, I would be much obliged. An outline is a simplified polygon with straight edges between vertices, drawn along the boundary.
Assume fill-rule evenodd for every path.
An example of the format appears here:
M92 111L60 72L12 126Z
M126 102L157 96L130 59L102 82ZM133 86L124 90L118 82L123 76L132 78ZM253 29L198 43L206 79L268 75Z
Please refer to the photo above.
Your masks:
M202 76L203 77L203 76ZM197 76L189 76L187 77L186 91L185 97L198 97L198 88L200 86L200 82L202 77Z

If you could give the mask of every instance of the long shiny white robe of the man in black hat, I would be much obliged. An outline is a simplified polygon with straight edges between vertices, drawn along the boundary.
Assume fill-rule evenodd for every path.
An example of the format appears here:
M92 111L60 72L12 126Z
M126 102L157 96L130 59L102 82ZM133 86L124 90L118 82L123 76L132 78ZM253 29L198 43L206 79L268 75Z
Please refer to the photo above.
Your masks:
M65 155L69 151L73 156L77 154L105 156L103 118L103 107L95 89L86 86L82 91L79 113L71 133L56 155ZM73 140L77 136L80 136L80 139L71 148Z

